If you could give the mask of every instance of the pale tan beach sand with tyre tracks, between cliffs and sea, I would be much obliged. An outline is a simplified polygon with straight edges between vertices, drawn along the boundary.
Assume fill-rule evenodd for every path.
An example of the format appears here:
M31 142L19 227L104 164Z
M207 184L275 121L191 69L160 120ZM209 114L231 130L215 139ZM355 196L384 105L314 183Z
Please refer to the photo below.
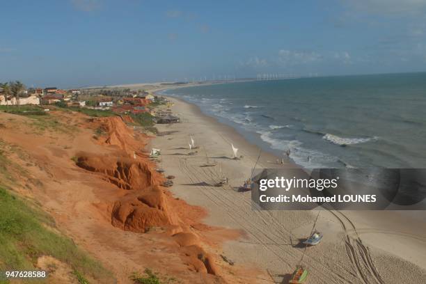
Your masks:
M148 148L161 149L159 165L166 175L176 177L171 191L205 208L207 225L241 231L239 239L225 242L215 253L236 267L263 271L258 276L238 275L243 283L271 283L272 278L287 283L297 265L308 269L309 283L426 283L424 219L405 212L322 210L317 229L324 233L324 240L305 251L299 242L310 233L318 211L252 210L251 192L237 189L250 178L260 149L235 129L205 116L194 104L168 99L181 123L157 125L160 135ZM190 135L200 146L193 150L198 151L196 155L187 155ZM239 148L242 159L230 159L231 143ZM217 166L202 167L206 152ZM276 164L276 159L262 152L256 167L297 167L291 161ZM229 183L214 187L221 175Z

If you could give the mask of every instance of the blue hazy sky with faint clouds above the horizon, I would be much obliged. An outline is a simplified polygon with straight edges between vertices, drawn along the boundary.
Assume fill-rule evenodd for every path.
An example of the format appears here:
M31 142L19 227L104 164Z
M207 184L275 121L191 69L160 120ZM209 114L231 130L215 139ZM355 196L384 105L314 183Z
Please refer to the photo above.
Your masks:
M426 71L426 0L0 0L0 82Z

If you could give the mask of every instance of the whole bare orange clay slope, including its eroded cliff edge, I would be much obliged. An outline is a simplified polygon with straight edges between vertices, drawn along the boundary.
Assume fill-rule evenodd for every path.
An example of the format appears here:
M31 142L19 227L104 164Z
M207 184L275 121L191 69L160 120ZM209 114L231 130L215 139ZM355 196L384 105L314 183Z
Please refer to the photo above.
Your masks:
M40 130L32 118L0 113L8 159L26 172L10 173L18 180L10 186L38 200L118 283L132 283L129 276L145 268L180 283L246 283L258 275L219 257L221 242L239 232L200 223L205 210L161 187L143 150L149 137L127 127L131 118L50 111L49 119L54 127Z

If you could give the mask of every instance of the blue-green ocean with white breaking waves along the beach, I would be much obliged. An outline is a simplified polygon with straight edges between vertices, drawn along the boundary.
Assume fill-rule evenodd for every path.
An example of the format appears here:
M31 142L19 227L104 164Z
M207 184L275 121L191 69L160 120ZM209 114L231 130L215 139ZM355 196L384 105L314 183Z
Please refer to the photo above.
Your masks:
M426 168L426 73L166 90L304 168Z

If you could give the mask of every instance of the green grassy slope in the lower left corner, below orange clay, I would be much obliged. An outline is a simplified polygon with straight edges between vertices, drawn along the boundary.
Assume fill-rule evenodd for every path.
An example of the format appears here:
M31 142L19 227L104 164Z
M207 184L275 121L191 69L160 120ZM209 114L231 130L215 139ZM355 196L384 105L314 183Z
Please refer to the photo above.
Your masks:
M110 271L54 226L51 216L0 187L0 271L34 270L38 257L51 255L70 265L80 283L88 283L86 278L114 282Z

